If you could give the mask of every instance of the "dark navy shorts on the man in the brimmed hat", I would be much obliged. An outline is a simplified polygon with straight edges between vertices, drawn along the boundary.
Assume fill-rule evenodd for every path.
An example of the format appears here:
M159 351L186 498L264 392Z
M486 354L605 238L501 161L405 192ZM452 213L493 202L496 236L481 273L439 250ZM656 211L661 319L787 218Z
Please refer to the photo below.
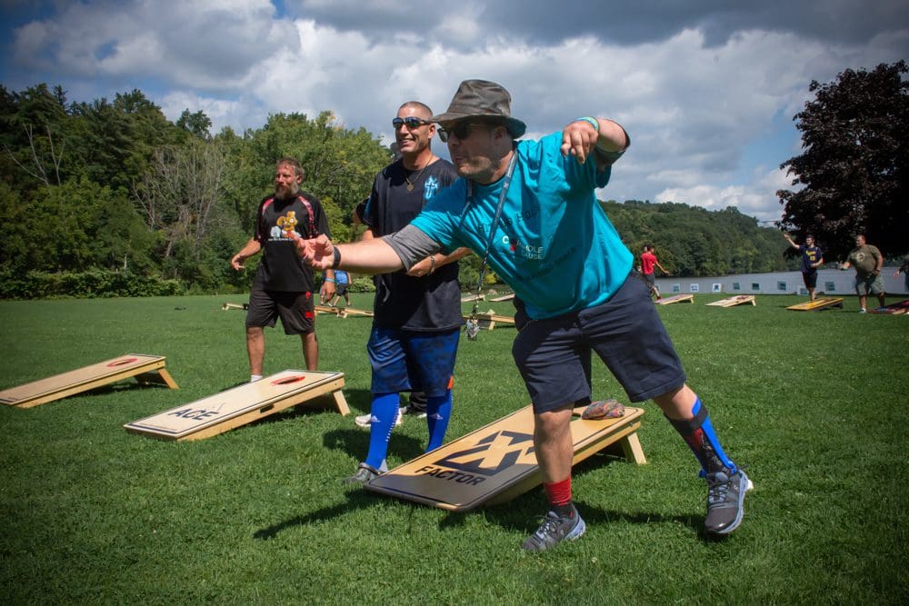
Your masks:
M512 354L534 412L591 396L584 356L593 350L632 402L674 391L685 382L682 363L647 286L629 276L613 298L580 312L532 320L514 339Z

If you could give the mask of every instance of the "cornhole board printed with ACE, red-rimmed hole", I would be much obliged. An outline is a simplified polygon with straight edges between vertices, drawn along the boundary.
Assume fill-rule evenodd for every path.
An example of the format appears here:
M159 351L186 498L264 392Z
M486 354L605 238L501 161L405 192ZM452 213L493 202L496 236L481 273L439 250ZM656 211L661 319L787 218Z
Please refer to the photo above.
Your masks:
M344 373L285 370L256 382L215 393L202 400L126 423L127 432L163 440L202 440L257 421L291 406L331 393L342 415L348 414L341 388Z

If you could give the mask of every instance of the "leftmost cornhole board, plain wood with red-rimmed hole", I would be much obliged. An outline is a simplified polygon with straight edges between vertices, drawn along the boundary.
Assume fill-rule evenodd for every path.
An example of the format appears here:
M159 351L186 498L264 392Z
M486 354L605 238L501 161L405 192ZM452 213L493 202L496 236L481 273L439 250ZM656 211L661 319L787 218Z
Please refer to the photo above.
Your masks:
M4 390L0 392L0 402L19 408L31 408L130 377L135 377L142 385L164 383L171 389L178 389L170 373L167 373L165 364L162 355L127 353L119 358Z

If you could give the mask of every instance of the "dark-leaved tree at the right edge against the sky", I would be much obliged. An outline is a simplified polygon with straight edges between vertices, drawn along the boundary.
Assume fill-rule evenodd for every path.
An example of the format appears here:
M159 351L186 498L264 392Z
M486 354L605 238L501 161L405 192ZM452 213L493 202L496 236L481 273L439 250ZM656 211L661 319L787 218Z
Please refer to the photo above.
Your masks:
M814 100L794 116L804 152L780 168L803 187L776 193L781 226L813 233L831 259L853 247L856 233L888 255L909 247L907 70L899 61L871 72L848 69L829 84L812 81Z

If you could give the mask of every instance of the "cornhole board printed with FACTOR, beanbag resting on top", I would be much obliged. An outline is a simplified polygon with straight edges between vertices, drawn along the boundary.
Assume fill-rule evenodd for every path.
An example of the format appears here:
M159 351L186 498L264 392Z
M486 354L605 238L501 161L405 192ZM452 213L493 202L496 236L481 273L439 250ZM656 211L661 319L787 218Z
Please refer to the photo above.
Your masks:
M618 442L625 458L646 463L637 429L643 408L625 408L619 419L584 421L574 409L572 464ZM366 489L466 512L479 505L508 502L542 482L534 453L534 412L530 406L426 452L365 483Z

